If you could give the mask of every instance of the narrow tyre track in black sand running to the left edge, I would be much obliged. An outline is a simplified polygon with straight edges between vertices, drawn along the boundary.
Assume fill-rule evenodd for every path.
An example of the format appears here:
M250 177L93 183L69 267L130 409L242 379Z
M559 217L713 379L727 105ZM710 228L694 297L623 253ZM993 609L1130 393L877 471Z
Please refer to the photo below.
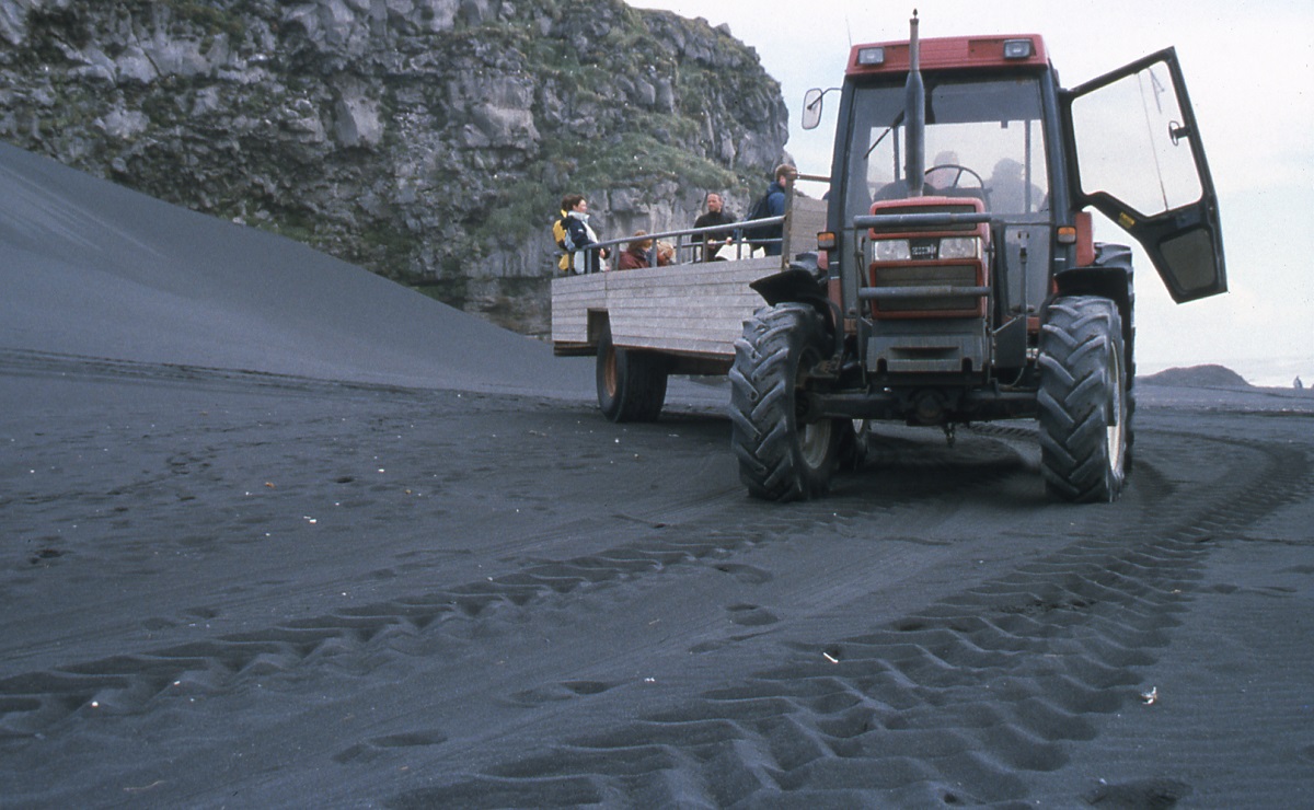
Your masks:
M909 445L890 440L880 450L886 459ZM908 470L924 479L957 470L955 492L986 487L1016 473L1016 465L988 462L963 467L953 457L929 454L908 461ZM735 490L733 500L744 503ZM610 549L568 559L523 558L518 570L487 580L445 589L346 608L243 633L217 635L156 650L84 660L0 679L0 740L22 740L55 734L60 723L83 713L141 714L170 698L221 693L246 683L280 676L304 677L306 667L331 663L367 670L389 656L432 652L434 637L451 631L451 621L491 621L505 608L566 597L581 588L612 586L640 576L660 575L671 566L711 563L740 550L788 538L819 525L854 520L833 503L794 504L762 512L753 505L745 515L759 520L724 520L731 498L700 494L677 503L645 507L633 515L614 516L633 540ZM870 511L916 504L916 487L905 486ZM549 536L562 526L544 526ZM532 545L532 540L531 540ZM461 631L466 635L468 629ZM432 736L427 730L426 735Z

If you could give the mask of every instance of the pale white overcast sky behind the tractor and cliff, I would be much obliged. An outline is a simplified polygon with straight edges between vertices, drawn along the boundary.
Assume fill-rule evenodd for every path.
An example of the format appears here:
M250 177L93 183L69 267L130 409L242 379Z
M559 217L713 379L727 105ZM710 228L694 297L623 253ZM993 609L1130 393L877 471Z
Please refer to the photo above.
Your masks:
M1255 385L1314 383L1314 4L1277 0L628 0L731 33L754 47L790 108L786 150L829 171L834 112L799 129L803 93L837 87L849 47L922 37L1038 33L1064 87L1175 46L1218 190L1230 291L1175 305L1138 249L1139 372L1218 362ZM1097 219L1100 219L1097 217ZM1108 222L1096 239L1131 243Z

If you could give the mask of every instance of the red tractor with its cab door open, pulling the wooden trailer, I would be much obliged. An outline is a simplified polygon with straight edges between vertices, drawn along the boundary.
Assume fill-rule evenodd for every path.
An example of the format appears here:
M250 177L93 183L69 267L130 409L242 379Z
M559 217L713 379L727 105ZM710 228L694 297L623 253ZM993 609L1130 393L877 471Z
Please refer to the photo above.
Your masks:
M825 92L809 91L804 127ZM1226 290L1218 202L1172 49L1063 89L1038 35L859 45L819 251L753 288L731 369L740 478L824 494L867 424L1039 423L1047 491L1131 466L1131 251L1177 302ZM926 156L933 155L928 160Z

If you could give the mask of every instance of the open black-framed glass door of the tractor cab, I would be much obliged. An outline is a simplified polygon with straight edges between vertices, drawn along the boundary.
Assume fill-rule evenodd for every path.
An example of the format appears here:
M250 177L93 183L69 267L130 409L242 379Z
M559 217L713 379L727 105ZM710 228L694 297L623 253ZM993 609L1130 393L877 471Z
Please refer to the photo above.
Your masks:
M1064 91L1062 109L1077 207L1131 234L1177 303L1227 291L1218 197L1177 53Z

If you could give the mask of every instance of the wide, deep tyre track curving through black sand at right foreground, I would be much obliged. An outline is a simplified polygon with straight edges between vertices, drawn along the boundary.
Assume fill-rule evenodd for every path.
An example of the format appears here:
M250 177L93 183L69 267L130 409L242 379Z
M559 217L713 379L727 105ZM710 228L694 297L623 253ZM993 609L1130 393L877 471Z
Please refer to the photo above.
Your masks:
M678 709L388 803L1025 801L1022 775L1058 769L1100 715L1139 698L1135 668L1167 646L1213 538L1309 491L1300 450L1167 436L1227 450L1229 487L1184 494L1142 462L1152 520L1129 534L1079 540L871 633L796 647L795 660Z

